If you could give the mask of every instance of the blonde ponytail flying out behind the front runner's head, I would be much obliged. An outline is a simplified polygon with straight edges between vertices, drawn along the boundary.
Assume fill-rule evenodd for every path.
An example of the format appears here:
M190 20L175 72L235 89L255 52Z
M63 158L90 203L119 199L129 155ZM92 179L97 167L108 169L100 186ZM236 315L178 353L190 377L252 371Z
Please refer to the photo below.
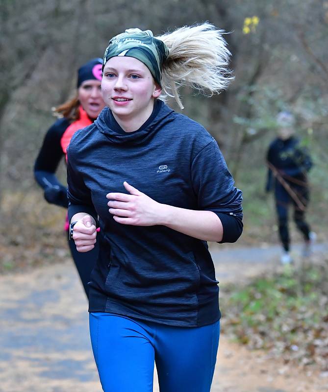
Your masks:
M204 95L220 94L233 79L228 68L230 51L225 32L210 23L183 26L156 36L169 48L162 66L163 97L173 97L181 109L181 86L192 86Z

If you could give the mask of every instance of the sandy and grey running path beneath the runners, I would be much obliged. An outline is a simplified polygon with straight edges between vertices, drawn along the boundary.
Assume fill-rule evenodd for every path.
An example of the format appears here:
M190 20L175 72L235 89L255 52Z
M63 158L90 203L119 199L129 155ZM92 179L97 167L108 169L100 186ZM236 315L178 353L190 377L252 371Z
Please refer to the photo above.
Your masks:
M318 252L327 251L320 246ZM223 283L276 268L278 247L213 250L212 255ZM1 276L0 293L0 392L101 392L87 301L73 263ZM221 336L212 391L328 391L323 375L287 367Z

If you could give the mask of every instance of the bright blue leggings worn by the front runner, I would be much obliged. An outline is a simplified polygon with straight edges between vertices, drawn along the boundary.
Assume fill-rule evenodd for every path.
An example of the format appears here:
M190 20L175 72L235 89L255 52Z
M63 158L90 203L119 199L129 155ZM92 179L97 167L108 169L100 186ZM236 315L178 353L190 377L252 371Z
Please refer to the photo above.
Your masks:
M90 336L104 392L209 392L220 322L172 327L111 313L90 313Z

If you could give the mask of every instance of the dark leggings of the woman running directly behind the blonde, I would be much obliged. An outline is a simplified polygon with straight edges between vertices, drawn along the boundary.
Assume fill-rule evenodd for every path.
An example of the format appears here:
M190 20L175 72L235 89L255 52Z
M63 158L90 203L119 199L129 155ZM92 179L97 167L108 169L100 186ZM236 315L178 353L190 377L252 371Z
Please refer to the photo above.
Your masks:
M67 236L68 239L68 236ZM71 250L76 270L80 276L85 294L89 298L89 286L91 271L93 270L98 254L99 254L99 242L97 241L95 247L89 252L78 252L74 241L68 240L68 245Z

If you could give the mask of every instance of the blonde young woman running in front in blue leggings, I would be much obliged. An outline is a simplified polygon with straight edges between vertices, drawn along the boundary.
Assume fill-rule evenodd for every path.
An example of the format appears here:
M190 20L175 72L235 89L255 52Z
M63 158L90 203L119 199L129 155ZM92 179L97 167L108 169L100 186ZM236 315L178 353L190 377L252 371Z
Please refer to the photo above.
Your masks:
M126 30L104 54L107 107L69 146L72 237L80 252L100 245L89 312L105 392L152 391L154 362L161 392L210 390L220 310L206 241L238 239L242 194L213 137L159 97L181 105L177 83L221 91L228 59L210 24Z

